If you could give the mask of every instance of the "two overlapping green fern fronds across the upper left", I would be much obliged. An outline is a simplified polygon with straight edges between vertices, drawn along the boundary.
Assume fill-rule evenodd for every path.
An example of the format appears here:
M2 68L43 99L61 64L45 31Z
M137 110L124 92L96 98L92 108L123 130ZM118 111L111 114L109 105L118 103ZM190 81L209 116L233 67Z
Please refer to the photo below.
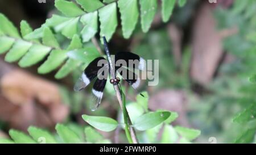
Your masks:
M162 1L163 21L167 22L172 14L176 1ZM185 1L179 1L183 6ZM156 0L132 0L132 1L81 1L56 0L55 7L63 15L52 15L42 24L42 27L32 30L30 25L22 20L20 22L20 37L18 30L5 15L0 14L0 54L7 51L7 62L19 61L21 67L28 67L46 60L39 67L38 72L46 74L58 69L62 64L56 78L63 78L72 72L76 66L84 65L88 61L73 60L68 58L67 51L56 38L56 35L64 35L67 39L74 36L88 42L98 31L98 19L100 20L100 36L106 36L110 40L118 26L117 7L121 13L121 26L123 37L129 39L139 19L139 6L141 10L142 31L147 32L156 14L158 3ZM171 7L169 7L171 6ZM81 41L75 41L81 42ZM72 44L72 42L71 42ZM70 45L71 46L71 45ZM75 47L72 49L81 49ZM49 55L48 55L49 54ZM45 59L48 56L47 59ZM88 60L83 56L83 60ZM89 58L90 59L90 58ZM56 60L56 61L53 61Z

